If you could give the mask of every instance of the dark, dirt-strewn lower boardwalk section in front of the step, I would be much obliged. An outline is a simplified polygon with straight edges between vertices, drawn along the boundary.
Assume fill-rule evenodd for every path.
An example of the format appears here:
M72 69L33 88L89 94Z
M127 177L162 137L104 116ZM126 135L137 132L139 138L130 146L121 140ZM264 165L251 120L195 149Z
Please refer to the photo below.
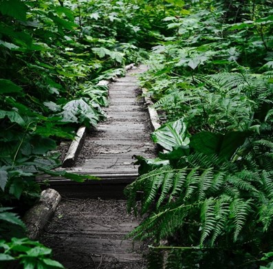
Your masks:
M124 239L139 220L126 213L126 204L123 200L64 199L40 240L54 249L54 259L68 269L105 268L111 261L120 268L140 262L134 267L140 269L140 243Z

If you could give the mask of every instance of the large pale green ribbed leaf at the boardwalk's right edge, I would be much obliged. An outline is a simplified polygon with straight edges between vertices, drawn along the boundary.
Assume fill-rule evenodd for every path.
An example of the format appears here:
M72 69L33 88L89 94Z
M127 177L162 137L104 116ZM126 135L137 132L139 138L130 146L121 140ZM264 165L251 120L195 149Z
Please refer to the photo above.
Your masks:
M184 118L167 122L151 135L153 142L171 151L176 146L187 146L190 142Z

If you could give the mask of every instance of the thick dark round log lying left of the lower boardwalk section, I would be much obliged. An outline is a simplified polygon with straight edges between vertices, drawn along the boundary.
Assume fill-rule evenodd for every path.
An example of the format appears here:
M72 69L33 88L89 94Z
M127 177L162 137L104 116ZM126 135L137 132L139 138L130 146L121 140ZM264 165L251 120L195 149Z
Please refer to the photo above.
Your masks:
M25 222L27 228L28 238L32 240L39 238L43 228L45 228L54 215L60 201L61 195L54 189L42 191L39 202L34 204L23 217L23 222Z

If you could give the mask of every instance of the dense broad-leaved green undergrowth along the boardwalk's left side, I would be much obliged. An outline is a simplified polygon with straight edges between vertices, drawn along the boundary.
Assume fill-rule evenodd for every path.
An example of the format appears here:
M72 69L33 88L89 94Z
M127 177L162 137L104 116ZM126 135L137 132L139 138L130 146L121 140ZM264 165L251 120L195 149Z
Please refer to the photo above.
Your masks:
M125 0L0 0L3 211L12 206L23 214L39 198L36 175L56 174L51 170L60 165L55 149L61 140L74 139L80 125L90 129L104 120L108 89L98 81L122 76L124 65L146 56L136 45L141 41L139 32L149 35L148 24L141 26L132 17L143 17L140 6ZM95 178L60 175L78 182ZM60 267L47 259L50 250L18 239L23 233L17 235L16 229L1 222L3 226L10 236L4 237L1 230L0 262L17 259L25 268Z

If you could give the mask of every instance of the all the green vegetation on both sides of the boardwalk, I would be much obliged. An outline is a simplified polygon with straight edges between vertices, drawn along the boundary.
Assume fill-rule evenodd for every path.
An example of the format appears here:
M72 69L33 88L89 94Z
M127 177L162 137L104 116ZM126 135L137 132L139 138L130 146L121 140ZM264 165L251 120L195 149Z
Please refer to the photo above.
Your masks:
M151 49L142 85L164 123L152 135L162 153L136 156L129 210L148 217L131 236L149 241L149 268L272 266L272 8L269 0L0 0L0 205L8 207L0 262L61 268L50 250L22 239L9 207L39 197L34 178L59 165L58 142L105 118L98 81Z

